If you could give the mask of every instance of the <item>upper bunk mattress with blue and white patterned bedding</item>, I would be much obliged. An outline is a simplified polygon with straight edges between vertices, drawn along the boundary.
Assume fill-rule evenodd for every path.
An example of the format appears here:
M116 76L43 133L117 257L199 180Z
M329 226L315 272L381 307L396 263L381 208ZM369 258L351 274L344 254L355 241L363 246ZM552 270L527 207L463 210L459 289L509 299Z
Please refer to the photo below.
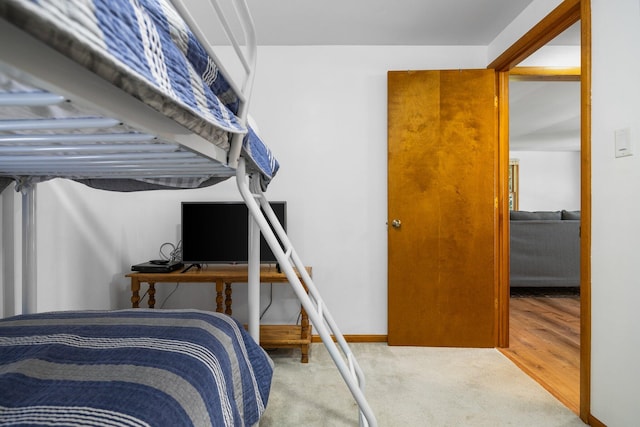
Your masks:
M243 156L248 167L260 172L263 186L275 175L279 166L273 154L236 116L239 96L167 0L5 0L0 2L0 17L224 151L229 150L232 134L245 134ZM0 72L2 62L0 57ZM26 87L22 83L21 90ZM0 95L14 90L5 87ZM23 118L12 116L7 108L0 110L0 120ZM93 116L83 113L78 116ZM2 128L0 133L15 132ZM17 168L14 163L13 170ZM220 174L184 181L189 182L186 187L219 181L211 180L212 176ZM97 182L102 177L84 178ZM159 184L158 188L165 181L145 180ZM173 188L175 182L167 186Z

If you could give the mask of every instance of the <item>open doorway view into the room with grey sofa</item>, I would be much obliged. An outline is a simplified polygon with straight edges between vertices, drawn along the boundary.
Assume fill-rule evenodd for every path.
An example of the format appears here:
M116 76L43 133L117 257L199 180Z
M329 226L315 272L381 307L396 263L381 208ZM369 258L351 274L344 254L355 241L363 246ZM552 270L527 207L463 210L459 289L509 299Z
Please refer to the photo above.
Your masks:
M579 413L579 23L566 32L574 37L554 40L510 72L510 164L517 169L510 166L509 348L501 350ZM549 68L564 65L558 56L577 66ZM548 220L525 219L534 212Z

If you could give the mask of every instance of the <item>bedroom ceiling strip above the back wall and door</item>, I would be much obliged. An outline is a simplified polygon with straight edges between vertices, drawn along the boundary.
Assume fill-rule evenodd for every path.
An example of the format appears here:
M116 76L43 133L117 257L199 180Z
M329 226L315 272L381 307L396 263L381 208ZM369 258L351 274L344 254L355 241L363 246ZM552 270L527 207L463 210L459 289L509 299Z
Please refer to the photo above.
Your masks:
M533 0L247 0L260 45L486 46Z

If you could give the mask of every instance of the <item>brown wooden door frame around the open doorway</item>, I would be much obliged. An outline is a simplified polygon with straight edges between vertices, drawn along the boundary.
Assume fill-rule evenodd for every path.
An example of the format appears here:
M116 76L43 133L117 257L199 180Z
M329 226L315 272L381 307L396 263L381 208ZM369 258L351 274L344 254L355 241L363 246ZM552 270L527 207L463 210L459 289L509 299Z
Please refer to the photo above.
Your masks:
M580 21L580 418L591 416L591 3L565 0L487 68L498 92L498 346L509 345L509 70Z

